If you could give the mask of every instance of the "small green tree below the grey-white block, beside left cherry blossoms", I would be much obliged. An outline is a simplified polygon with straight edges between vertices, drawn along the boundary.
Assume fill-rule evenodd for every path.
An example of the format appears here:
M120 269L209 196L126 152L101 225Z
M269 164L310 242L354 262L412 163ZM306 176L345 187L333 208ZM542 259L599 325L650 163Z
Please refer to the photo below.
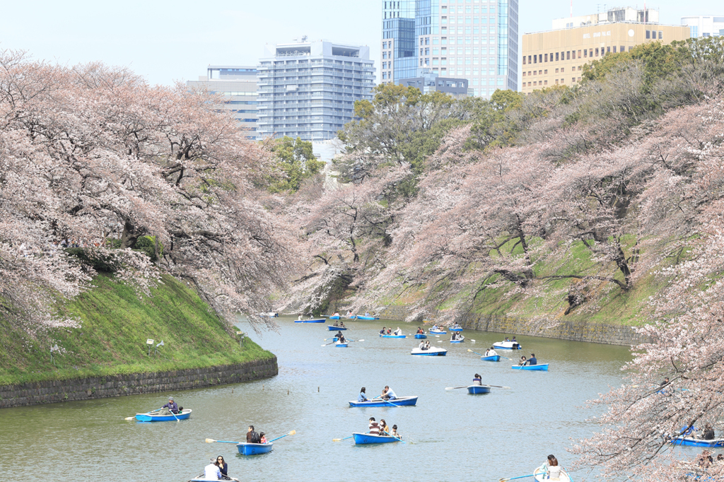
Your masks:
M286 135L272 140L268 146L276 160L277 172L267 179L270 193L295 193L304 179L316 176L324 168L312 151L312 143Z

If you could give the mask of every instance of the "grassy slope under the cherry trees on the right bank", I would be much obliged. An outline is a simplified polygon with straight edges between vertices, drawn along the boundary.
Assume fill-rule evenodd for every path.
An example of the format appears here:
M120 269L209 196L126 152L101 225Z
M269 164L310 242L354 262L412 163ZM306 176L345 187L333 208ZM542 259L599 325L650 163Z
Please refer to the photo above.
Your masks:
M518 249L514 254L520 255ZM552 261L554 260L555 261ZM659 266L660 268L662 266ZM623 281L623 274L610 266L602 271L598 263L592 261L592 253L582 242L568 246L565 253L557 258L549 257L546 263L534 263L534 288L529 292L514 290L509 283L497 286L497 276L492 276L481 287L468 287L457 297L447 300L437 308L444 311L456 305L459 299L470 300L474 295L474 303L470 316L510 316L531 319L543 316L557 321L589 321L594 323L621 324L638 326L649 321L649 300L656 295L665 284L653 273L637 276L633 287L623 290L618 285L606 281L586 281L583 292L586 301L576 306L567 315L569 308L568 292L574 284L581 284L580 279L555 279L549 276L610 276ZM581 284L582 286L582 284ZM531 295L532 290L535 295ZM475 290L475 291L473 291ZM477 293L476 293L477 292ZM387 298L389 305L408 305L415 303L425 295L424 289L405 289L403 293L395 293ZM433 319L434 316L431 317Z

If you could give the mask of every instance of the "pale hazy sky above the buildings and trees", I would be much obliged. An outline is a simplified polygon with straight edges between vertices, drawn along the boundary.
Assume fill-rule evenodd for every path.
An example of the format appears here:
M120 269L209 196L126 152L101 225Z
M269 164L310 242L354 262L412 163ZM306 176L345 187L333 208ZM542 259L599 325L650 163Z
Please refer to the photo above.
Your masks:
M256 65L265 43L308 35L369 45L379 70L382 0L5 1L0 49L28 51L62 64L102 61L130 67L151 83L196 80L206 66ZM570 0L519 0L521 33L548 30L568 17ZM606 5L606 7L604 7ZM573 0L573 15L622 7ZM643 1L631 1L642 8ZM600 6L600 7L599 7ZM722 0L647 1L661 22L724 15Z

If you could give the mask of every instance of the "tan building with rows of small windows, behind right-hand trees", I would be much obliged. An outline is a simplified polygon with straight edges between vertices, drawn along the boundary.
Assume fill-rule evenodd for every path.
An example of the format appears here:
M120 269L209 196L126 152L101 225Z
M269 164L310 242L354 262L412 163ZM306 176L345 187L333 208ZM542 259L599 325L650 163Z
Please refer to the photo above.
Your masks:
M553 20L547 32L523 35L522 91L581 81L584 64L641 43L689 38L689 27L659 25L655 10L611 9L602 14ZM645 20L645 22L644 22Z

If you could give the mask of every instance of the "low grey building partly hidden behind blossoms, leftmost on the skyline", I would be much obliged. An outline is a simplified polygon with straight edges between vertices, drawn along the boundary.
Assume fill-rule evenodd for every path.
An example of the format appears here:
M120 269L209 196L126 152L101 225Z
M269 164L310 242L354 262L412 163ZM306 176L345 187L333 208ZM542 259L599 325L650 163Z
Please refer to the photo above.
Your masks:
M224 109L249 130L249 138L256 139L256 67L246 65L209 65L206 75L189 80L186 85L194 90L206 90L224 98Z

